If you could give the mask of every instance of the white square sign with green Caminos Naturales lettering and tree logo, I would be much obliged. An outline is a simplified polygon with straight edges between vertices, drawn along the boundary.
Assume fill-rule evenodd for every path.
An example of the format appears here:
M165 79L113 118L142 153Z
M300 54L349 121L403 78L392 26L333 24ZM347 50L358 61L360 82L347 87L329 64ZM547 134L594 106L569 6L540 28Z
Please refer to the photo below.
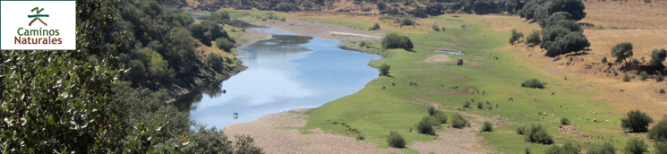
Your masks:
M0 50L75 50L76 1L0 1Z

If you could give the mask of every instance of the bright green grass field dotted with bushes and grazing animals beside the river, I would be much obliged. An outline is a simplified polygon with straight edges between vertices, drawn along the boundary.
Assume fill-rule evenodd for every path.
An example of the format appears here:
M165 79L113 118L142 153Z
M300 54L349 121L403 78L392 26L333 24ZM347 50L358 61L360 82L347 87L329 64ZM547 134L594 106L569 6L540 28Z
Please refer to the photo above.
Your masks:
M261 15L267 12L244 12L231 11L234 18L247 18L247 16ZM245 14L245 15L243 15ZM290 18L292 13L277 13L280 16ZM372 23L362 20L348 20L340 16L331 17L306 17L309 21L342 24L352 27L371 27ZM602 145L604 141L612 141L617 150L625 147L626 141L631 136L645 137L644 134L631 134L624 136L620 128L622 116L606 113L611 107L601 100L592 100L597 94L589 92L569 92L564 90L573 87L573 80L563 81L560 77L548 75L542 70L537 70L522 61L522 55L517 52L503 52L500 48L509 46L509 30L494 30L487 21L499 21L509 23L518 30L537 30L535 24L528 24L518 17L488 17L476 15L460 15L458 18L449 15L441 15L422 20L421 26L417 27L389 27L382 24L382 30L406 35L415 44L413 52L402 49L381 50L379 41L367 41L371 47L359 47L350 41L341 44L347 47L355 47L362 52L385 56L385 58L373 60L370 65L379 68L381 64L391 65L389 74L391 77L382 76L366 84L359 92L338 98L321 107L317 107L307 114L308 123L300 130L321 128L329 133L340 133L350 137L356 137L356 133L350 133L348 128L341 124L345 123L352 129L359 130L366 136L364 141L378 143L379 147L388 148L385 136L389 131L396 130L401 133L407 141L408 146L414 141L432 141L435 136L424 135L408 130L415 129L423 116L428 116L426 111L430 103L437 103L440 110L447 113L462 107L466 100L490 101L498 104L492 110L476 108L465 108L469 114L479 116L502 116L507 118L509 124L494 128L492 133L478 133L483 136L499 152L523 153L527 148L533 153L543 153L547 145L530 143L524 141L523 135L514 133L521 125L542 124L543 128L553 136L556 144L573 142L586 150L591 146ZM432 24L437 22L445 31L436 32L431 29ZM461 25L466 25L466 30ZM438 55L433 52L439 48L449 48L466 51L466 55L448 55L450 61L437 63L424 63L424 59ZM492 57L498 56L499 60ZM466 64L456 65L456 59L464 59ZM476 65L469 62L475 62ZM522 88L521 82L537 78L548 82L544 90ZM392 86L395 82L397 85ZM418 87L409 86L409 82L416 82ZM450 90L449 86L458 86L458 90ZM386 87L386 90L382 90ZM485 95L472 94L465 89L485 91ZM556 92L556 95L551 95ZM514 101L508 101L514 98ZM537 101L535 101L537 100ZM473 103L475 106L476 103ZM562 108L561 108L562 107ZM567 109L566 109L567 108ZM552 111L553 109L553 111ZM548 116L537 113L548 113ZM577 124L577 131L591 135L590 137L570 136L559 131L560 118L567 117L572 124ZM590 119L588 122L586 119ZM610 120L610 123L594 123L593 119ZM472 122L481 123L481 122ZM455 129L446 128L443 129ZM442 130L436 130L440 132ZM653 144L649 143L649 149ZM418 153L416 150L402 149L407 153Z

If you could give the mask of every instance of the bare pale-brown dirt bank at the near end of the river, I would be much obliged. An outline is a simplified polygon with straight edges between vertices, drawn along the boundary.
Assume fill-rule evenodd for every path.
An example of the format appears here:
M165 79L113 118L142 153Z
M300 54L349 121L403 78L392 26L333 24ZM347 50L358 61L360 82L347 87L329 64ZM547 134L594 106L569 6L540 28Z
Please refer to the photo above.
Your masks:
M261 116L250 123L227 125L227 136L248 134L265 153L400 153L398 149L377 148L375 143L356 141L343 135L326 133L317 128L302 134L292 127L304 127L308 109Z

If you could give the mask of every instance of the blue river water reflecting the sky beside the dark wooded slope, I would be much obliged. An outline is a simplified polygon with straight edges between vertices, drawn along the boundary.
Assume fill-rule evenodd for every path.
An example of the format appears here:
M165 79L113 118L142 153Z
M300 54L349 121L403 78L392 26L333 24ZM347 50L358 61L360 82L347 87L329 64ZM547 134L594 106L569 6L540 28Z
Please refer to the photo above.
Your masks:
M381 56L352 51L337 40L252 30L262 30L272 38L238 47L246 54L236 57L247 70L176 100L182 109L190 110L197 124L224 128L264 115L320 107L363 89L378 77L378 70L368 63Z

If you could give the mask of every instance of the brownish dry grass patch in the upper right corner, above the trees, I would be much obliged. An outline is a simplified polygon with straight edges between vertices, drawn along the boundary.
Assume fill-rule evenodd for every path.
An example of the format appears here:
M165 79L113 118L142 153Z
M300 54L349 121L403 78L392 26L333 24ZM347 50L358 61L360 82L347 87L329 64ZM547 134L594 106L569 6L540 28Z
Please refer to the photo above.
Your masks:
M586 4L586 18L582 22L595 26L629 29L667 29L667 1L643 0L606 1L589 0Z

